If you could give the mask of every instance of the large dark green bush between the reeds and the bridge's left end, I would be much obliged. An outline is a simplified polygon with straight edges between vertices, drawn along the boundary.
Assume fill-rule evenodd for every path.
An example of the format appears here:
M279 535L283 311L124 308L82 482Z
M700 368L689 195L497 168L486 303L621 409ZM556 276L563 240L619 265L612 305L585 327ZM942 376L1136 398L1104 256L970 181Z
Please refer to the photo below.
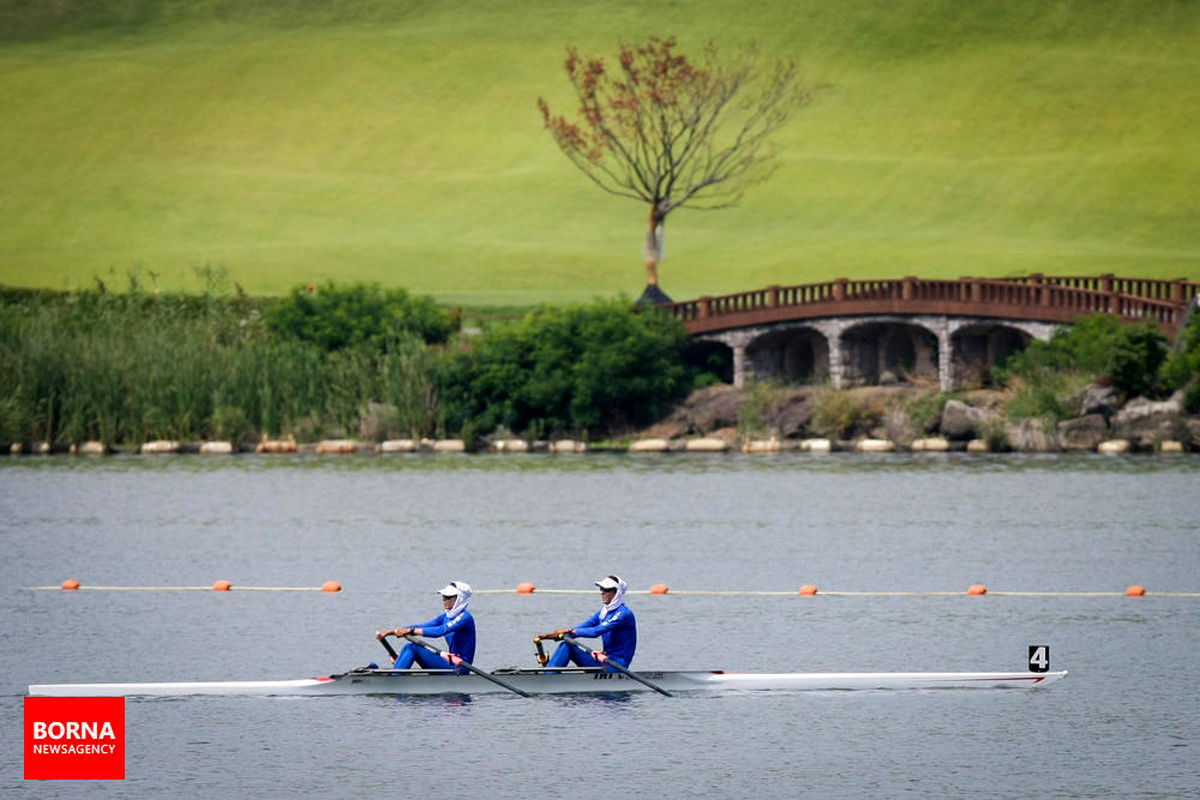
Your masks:
M538 435L644 425L692 386L688 332L624 300L542 307L498 325L442 371L446 422Z

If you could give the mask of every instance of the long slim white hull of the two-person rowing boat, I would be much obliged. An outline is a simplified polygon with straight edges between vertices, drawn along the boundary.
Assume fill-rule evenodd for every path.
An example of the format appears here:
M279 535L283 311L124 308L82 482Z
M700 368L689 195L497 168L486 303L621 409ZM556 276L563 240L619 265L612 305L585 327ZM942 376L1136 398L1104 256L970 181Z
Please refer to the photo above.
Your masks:
M593 669L515 669L493 673L530 694L604 694L648 692L650 687L618 673ZM804 691L804 690L923 690L1007 688L1045 686L1062 672L875 672L875 673L728 673L721 670L641 672L671 692L689 691ZM356 669L325 678L162 684L41 684L29 687L34 697L180 697L188 694L478 694L509 692L479 675L446 670Z

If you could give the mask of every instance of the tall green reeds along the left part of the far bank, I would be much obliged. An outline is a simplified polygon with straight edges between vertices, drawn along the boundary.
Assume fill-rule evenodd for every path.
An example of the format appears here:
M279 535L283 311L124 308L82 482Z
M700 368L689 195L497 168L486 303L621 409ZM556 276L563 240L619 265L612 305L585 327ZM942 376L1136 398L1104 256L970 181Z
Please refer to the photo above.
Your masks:
M0 441L355 435L372 402L432 433L436 356L272 336L242 297L140 291L0 299Z

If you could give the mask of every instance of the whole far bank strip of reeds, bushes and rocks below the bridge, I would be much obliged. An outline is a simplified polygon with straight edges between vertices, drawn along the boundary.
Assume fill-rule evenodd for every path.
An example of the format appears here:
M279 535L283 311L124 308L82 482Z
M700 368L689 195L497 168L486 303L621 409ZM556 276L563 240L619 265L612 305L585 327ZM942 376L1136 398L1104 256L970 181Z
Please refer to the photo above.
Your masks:
M985 379L722 381L628 299L464 332L374 284L251 297L0 288L4 452L1196 451L1200 315L1080 318ZM706 353L706 356L710 355ZM725 378L727 380L727 377Z

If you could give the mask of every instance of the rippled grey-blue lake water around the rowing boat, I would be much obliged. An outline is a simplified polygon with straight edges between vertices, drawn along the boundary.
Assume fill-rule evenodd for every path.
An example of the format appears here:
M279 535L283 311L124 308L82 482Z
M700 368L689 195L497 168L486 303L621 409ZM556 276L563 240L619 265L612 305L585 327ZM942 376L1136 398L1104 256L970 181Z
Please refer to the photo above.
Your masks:
M1200 459L0 459L5 796L1200 796ZM534 666L608 572L635 668L1025 669L1044 690L126 702L127 778L24 782L29 684L328 674L480 591L476 663ZM40 591L84 585L320 587ZM954 591L802 597L794 590ZM992 590L970 597L966 588ZM1142 584L1142 599L1121 596ZM997 591L1111 593L1000 596Z

